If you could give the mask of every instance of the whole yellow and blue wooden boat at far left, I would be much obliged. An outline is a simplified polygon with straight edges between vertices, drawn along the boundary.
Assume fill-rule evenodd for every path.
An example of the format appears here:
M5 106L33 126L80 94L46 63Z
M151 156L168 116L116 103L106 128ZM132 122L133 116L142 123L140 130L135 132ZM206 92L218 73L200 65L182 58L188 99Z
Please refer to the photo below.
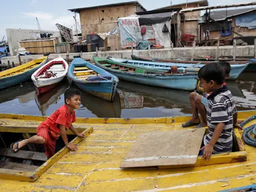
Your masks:
M31 79L31 75L47 63L47 56L0 72L0 89Z

